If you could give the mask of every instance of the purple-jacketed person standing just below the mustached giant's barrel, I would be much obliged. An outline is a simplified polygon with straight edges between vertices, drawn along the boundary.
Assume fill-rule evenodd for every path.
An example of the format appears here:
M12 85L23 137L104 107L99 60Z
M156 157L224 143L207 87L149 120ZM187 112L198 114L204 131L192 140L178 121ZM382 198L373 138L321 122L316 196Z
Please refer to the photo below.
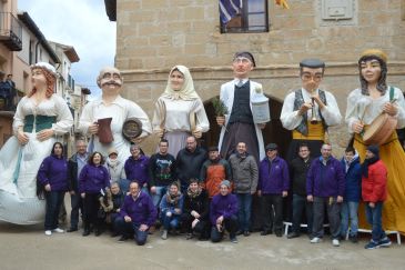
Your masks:
M130 148L131 157L129 157L124 164L124 170L128 180L126 183L121 184L121 189L128 192L129 184L132 181L139 182L139 186L145 192L148 192L149 183L149 158L142 153L139 144L132 144Z

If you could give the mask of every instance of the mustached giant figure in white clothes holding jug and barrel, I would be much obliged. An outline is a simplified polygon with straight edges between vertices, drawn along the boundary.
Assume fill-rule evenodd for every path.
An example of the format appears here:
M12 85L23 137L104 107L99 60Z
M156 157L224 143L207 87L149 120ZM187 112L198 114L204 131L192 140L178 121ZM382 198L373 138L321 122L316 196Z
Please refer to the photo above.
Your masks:
M142 133L132 142L140 143L152 132L152 127L146 113L135 102L120 96L122 77L118 69L107 67L100 71L97 78L98 86L102 89L102 96L84 106L80 117L79 130L92 139L89 143L90 151L99 151L104 157L108 156L110 148L115 148L119 152L118 158L122 162L130 154L131 142L122 136L122 124L129 118L138 118L142 122ZM112 118L111 131L113 141L101 143L99 140L99 119Z

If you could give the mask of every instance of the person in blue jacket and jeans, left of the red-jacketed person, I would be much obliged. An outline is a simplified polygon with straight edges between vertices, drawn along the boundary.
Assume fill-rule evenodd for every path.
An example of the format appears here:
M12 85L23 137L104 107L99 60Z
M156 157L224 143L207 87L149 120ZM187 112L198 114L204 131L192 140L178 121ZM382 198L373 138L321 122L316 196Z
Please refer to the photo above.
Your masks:
M360 163L358 153L353 147L346 148L345 156L342 158L341 162L342 168L346 173L346 189L341 209L341 238L346 238L350 220L351 230L348 239L356 243L358 230L357 211L360 198L362 197L362 166Z

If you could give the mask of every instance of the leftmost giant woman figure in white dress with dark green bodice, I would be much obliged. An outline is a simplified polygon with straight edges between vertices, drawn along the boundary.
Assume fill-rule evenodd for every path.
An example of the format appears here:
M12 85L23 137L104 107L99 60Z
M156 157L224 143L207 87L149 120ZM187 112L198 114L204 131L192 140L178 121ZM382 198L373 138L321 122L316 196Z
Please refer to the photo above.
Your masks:
M37 197L37 172L57 136L73 124L67 102L53 93L54 68L39 62L31 71L33 88L19 102L14 136L0 151L0 220L18 224L43 222L45 203Z

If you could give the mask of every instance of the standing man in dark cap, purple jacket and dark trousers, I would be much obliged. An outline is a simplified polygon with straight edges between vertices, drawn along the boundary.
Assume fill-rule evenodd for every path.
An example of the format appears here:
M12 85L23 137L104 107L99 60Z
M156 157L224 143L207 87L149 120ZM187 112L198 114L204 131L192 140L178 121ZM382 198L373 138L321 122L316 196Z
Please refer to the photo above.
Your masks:
M273 233L274 227L275 236L282 237L283 198L287 197L290 189L288 167L285 160L279 157L277 144L269 143L265 151L266 158L260 162L257 184L257 196L262 197L263 231L261 236Z

